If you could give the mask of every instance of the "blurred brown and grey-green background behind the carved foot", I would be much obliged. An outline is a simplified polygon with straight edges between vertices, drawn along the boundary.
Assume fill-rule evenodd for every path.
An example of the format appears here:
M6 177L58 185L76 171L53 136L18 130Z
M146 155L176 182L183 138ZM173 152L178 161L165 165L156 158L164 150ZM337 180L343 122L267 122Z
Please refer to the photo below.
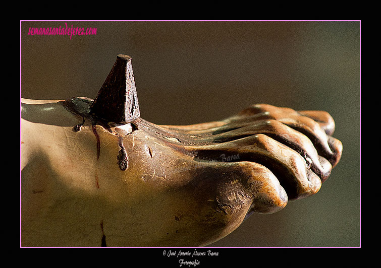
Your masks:
M117 54L132 56L141 117L192 124L254 103L325 110L342 160L320 191L272 215L252 215L211 246L360 245L359 22L82 22L91 36L28 35L22 22L21 96L95 98Z

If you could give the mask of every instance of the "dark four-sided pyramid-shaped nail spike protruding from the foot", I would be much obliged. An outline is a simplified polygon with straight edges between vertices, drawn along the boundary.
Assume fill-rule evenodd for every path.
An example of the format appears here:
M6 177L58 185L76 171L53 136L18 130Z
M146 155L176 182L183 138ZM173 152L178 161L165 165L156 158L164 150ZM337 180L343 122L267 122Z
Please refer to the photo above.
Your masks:
M131 57L119 54L100 88L90 112L114 123L129 123L140 116Z

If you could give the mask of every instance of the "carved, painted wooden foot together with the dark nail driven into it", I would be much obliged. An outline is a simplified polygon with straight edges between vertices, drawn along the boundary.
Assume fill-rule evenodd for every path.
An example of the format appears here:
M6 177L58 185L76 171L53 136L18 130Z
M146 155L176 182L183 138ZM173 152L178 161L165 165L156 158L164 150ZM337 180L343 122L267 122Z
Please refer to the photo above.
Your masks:
M23 245L208 245L316 193L340 160L326 112L259 104L156 125L133 80L120 55L95 100L23 101Z

